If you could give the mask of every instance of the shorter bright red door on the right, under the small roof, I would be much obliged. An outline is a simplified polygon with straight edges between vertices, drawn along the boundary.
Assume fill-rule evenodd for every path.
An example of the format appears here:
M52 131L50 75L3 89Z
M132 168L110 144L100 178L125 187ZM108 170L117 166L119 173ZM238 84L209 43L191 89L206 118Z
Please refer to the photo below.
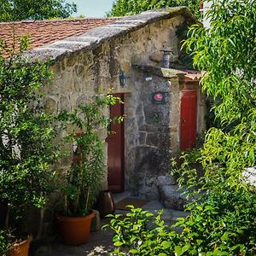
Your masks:
M181 94L180 149L186 150L195 147L197 91L183 90Z

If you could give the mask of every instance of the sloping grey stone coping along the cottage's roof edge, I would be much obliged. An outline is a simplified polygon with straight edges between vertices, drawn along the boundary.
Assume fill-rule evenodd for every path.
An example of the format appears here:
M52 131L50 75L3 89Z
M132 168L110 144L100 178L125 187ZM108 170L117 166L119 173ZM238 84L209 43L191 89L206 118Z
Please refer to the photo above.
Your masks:
M41 47L26 51L25 57L31 61L40 59L46 61L58 61L62 57L79 52L81 50L96 49L99 45L114 38L122 37L129 32L152 24L158 20L172 19L183 16L189 23L197 23L195 16L191 14L187 7L176 7L168 9L153 9L139 15L124 16L119 20L113 19L113 23L105 26L96 27L83 35L58 40L55 43L45 44Z

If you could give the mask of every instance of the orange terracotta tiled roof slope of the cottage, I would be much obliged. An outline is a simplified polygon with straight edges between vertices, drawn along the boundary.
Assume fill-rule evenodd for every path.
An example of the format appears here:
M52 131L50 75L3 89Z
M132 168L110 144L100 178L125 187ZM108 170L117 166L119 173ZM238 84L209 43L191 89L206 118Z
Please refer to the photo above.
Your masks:
M18 38L29 35L29 49L54 43L55 41L79 36L84 32L98 26L105 26L117 19L71 19L71 20L25 20L15 23L0 23L0 39L8 45L13 42L13 32L15 31L16 49L19 47ZM15 25L15 26L14 26ZM15 27L15 30L14 30Z

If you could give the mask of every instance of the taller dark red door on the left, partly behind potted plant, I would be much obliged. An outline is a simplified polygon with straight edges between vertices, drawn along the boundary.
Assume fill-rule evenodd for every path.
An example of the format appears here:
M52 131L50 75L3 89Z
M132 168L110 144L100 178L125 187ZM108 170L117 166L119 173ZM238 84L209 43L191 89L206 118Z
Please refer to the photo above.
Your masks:
M114 94L124 102L124 94ZM110 107L110 117L119 117L124 114L124 104ZM111 134L108 135L108 189L113 192L124 191L124 151L125 125L115 122L110 125Z

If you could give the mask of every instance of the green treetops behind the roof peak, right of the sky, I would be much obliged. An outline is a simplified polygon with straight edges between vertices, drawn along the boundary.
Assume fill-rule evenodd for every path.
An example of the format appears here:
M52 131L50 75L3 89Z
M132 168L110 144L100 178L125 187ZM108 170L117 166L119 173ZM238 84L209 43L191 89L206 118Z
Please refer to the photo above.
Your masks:
M187 6L192 14L200 18L198 0L117 0L108 16L137 15L149 9Z

